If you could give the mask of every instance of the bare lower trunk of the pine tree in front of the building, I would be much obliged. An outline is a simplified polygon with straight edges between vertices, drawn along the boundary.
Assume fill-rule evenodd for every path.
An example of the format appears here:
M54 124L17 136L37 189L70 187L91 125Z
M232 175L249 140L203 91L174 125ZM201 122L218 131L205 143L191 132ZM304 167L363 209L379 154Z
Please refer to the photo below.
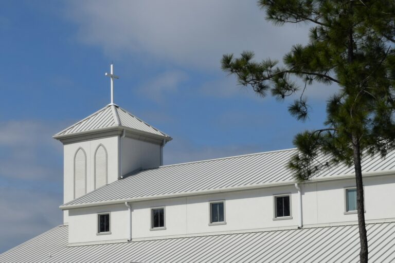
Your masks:
M357 136L352 136L352 145L354 152L354 169L356 181L356 206L358 212L358 228L360 230L360 261L368 262L368 238L365 227L365 205L364 205L364 185L362 182L362 166L361 166L361 149Z

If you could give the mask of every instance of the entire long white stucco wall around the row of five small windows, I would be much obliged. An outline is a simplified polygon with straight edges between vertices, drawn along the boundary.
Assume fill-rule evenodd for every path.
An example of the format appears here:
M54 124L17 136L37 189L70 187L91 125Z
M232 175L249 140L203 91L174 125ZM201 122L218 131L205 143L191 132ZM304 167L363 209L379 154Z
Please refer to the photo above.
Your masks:
M344 214L344 187L354 180L308 183L302 186L303 225L356 221ZM364 178L366 220L395 218L395 176ZM291 194L292 219L273 220L274 195ZM209 226L209 201L225 200L226 224ZM243 230L297 228L298 193L293 185L259 190L218 193L171 199L131 202L132 240ZM150 230L151 208L165 206L165 230ZM111 235L96 236L98 212L112 211ZM70 210L70 242L128 238L128 210L124 204Z

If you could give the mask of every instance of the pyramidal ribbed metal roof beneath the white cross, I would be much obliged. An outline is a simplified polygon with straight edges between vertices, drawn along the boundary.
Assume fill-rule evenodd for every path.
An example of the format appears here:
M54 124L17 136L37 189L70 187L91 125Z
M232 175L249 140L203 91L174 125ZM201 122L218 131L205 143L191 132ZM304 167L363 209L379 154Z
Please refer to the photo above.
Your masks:
M63 139L66 137L88 134L90 132L100 130L110 130L113 128L127 129L131 132L161 138L167 141L172 139L167 134L160 132L157 128L154 128L115 104L105 106L91 116L88 116L57 133L53 138Z

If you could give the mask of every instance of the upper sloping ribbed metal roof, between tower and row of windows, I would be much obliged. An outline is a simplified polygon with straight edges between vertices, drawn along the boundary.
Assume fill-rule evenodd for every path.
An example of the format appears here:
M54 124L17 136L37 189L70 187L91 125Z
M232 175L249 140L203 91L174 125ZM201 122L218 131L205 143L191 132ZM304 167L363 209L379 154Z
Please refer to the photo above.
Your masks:
M61 208L291 184L294 179L286 164L295 153L296 149L287 149L160 166L100 187L62 205ZM380 155L365 158L362 167L365 174L395 173L395 151L389 153L385 159ZM353 174L353 167L339 164L322 171L316 179Z

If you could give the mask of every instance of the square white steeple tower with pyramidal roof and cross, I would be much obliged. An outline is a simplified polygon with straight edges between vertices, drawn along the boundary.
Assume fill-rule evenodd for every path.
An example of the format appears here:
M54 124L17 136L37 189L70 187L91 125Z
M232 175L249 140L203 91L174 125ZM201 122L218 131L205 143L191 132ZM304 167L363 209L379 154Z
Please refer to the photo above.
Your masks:
M53 136L64 145L64 202L160 166L163 147L172 140L114 103L113 64L105 76L111 78L111 103Z

